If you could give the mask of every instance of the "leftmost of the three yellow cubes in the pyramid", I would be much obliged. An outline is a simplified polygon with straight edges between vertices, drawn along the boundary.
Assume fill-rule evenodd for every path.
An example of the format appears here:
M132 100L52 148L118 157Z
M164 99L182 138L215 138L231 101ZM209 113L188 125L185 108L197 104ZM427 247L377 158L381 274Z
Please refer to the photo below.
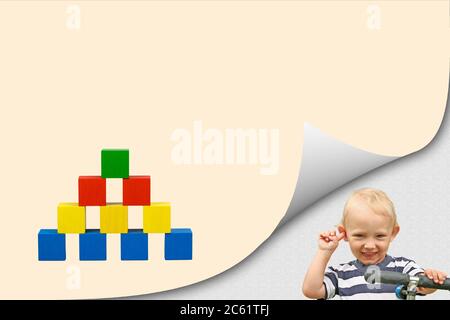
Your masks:
M58 205L58 233L85 233L86 207L78 203L60 203Z

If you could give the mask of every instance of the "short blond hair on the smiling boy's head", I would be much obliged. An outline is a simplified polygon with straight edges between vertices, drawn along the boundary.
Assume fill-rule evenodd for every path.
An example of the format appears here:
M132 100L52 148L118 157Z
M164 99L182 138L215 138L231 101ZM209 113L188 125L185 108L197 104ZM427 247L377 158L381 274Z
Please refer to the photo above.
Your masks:
M345 218L348 214L348 210L355 200L364 201L373 212L392 218L394 227L398 226L397 214L395 213L394 204L391 199L389 199L383 191L372 188L359 189L352 193L344 206L344 212L341 220L342 225L345 226Z

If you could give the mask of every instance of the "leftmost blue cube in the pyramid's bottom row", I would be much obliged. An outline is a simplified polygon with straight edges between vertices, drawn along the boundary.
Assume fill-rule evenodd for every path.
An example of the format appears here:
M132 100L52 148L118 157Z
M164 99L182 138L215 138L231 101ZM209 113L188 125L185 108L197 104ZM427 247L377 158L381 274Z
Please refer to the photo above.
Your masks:
M56 229L41 229L38 234L39 261L66 260L66 235Z

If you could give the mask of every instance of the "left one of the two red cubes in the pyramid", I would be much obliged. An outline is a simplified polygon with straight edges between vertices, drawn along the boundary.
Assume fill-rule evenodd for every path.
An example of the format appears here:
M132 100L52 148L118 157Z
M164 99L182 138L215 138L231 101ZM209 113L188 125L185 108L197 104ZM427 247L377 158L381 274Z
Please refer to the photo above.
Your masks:
M78 205L105 206L106 179L99 176L80 176L78 178Z

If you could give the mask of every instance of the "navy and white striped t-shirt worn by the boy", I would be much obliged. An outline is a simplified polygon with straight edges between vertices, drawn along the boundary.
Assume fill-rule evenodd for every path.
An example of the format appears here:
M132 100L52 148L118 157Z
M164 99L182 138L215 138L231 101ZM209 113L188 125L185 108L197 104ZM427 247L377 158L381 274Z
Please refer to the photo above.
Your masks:
M411 276L424 272L413 260L389 255L376 266L381 271L395 271ZM341 299L396 299L396 285L371 286L366 282L364 273L367 268L368 266L363 265L359 260L328 267L323 281L326 289L325 299L331 299L336 295Z

